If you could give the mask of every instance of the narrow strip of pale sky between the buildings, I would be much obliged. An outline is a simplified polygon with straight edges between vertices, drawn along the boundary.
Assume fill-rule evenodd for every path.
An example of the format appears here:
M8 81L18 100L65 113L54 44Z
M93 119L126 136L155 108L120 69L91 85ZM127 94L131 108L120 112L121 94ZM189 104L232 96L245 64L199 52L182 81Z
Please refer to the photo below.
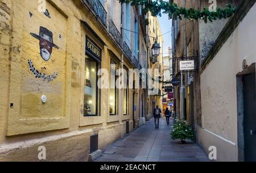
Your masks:
M158 21L160 24L160 28L162 30L162 34L166 33L165 35L163 35L163 39L164 39L163 56L168 56L168 47L171 47L172 45L172 41L171 41L172 33L170 32L172 29L171 20L169 20L167 14L162 13L162 16L158 16Z

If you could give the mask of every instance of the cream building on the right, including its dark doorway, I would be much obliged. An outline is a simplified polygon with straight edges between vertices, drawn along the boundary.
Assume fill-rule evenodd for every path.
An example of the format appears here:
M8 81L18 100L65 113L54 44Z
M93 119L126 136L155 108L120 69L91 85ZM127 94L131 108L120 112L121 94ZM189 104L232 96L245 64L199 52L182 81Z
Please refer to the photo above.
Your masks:
M199 144L216 146L217 161L256 161L255 9L241 1L201 62Z

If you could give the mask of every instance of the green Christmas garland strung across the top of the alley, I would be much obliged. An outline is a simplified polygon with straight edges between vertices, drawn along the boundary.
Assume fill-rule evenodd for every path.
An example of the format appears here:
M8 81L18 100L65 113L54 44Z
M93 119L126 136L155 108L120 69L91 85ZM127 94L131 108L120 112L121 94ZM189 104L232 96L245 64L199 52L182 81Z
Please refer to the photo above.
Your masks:
M234 12L236 12L236 7L231 5L226 5L226 9L217 8L216 11L209 11L208 8L203 10L198 9L185 9L184 7L178 7L176 3L171 3L163 0L119 0L120 3L131 3L132 6L142 6L144 12L151 12L152 16L161 16L161 12L168 14L169 18L182 20L183 16L186 19L203 19L205 23L212 22L217 19L230 18Z

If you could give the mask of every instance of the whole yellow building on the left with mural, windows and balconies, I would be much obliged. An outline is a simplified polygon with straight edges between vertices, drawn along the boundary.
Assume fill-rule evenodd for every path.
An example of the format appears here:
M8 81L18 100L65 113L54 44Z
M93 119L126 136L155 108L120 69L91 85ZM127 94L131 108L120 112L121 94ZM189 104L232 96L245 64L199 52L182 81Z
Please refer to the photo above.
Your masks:
M88 161L137 128L147 105L139 89L97 87L98 69L108 80L139 67L138 7L45 2L0 1L0 161L38 161L39 146L47 161Z

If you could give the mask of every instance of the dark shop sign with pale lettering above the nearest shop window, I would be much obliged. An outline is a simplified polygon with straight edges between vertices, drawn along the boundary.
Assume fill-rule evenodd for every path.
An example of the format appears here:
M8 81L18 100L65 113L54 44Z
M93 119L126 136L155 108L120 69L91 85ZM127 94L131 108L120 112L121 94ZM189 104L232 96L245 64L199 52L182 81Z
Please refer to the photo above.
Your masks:
M86 53L101 61L102 50L89 37L86 37Z

